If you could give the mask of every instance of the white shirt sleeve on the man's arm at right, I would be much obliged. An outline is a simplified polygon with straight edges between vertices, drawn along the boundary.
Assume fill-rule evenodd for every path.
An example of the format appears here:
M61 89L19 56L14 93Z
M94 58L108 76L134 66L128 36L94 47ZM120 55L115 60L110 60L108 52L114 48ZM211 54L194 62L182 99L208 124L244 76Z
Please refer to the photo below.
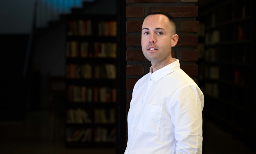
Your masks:
M202 107L196 86L178 90L170 103L176 154L202 154Z

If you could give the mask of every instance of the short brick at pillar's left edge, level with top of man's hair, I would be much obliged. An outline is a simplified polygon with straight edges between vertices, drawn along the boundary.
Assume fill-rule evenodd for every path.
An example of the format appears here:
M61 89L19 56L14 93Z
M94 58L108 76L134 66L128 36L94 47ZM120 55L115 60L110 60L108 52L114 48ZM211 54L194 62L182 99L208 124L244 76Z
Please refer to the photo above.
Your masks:
M144 18L143 6L126 6L126 17Z

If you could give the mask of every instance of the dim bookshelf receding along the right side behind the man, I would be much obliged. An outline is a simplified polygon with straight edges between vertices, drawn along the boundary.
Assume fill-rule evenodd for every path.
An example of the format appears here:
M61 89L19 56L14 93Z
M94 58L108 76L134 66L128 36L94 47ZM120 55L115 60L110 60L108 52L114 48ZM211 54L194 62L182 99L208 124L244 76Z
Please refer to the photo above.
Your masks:
M225 0L199 14L204 116L252 147L252 0Z

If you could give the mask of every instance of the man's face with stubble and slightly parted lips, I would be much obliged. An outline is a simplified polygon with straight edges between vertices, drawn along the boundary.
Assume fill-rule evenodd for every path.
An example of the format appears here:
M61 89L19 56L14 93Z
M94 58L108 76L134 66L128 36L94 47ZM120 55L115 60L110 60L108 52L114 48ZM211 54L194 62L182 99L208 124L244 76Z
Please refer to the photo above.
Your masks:
M170 59L172 51L172 25L162 15L150 15L142 24L141 46L144 56L151 62L161 63Z

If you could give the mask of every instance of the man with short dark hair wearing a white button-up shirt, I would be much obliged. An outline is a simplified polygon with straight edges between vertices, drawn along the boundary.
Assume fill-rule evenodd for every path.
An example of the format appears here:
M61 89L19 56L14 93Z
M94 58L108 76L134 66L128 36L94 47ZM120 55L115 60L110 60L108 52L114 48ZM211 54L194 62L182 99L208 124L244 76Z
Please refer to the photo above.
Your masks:
M150 73L134 86L124 154L201 154L204 96L171 56L178 42L169 14L150 12L142 25L142 51Z

